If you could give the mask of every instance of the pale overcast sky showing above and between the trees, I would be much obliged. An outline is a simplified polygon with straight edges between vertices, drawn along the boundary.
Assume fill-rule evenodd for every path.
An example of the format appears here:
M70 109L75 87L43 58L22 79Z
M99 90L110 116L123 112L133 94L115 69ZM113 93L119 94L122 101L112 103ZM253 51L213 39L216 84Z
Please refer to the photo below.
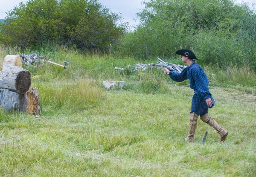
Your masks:
M18 6L20 2L26 3L27 0L0 0L0 19L6 16L7 11ZM136 13L140 12L139 9L143 8L143 0L99 0L99 3L111 9L113 12L122 13L123 22L129 22L130 25L139 24L136 19ZM237 3L256 3L256 0L236 0Z

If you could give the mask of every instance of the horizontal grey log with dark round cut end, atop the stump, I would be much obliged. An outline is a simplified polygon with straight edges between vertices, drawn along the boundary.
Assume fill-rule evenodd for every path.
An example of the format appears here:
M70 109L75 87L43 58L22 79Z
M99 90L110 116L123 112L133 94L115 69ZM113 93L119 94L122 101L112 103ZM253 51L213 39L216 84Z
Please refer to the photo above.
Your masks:
M28 70L3 64L3 69L0 71L0 88L23 94L29 90L30 85L31 78Z

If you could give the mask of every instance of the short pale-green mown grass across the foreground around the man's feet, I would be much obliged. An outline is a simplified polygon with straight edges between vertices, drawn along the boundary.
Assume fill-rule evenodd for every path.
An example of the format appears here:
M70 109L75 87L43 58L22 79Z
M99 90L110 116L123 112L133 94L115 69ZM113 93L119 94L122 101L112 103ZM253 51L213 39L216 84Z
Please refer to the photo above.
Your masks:
M213 88L218 105L210 114L229 136L219 143L218 133L199 119L195 143L184 143L192 90L170 89L157 95L103 91L101 106L68 115L10 115L0 124L0 174L253 177L255 97Z

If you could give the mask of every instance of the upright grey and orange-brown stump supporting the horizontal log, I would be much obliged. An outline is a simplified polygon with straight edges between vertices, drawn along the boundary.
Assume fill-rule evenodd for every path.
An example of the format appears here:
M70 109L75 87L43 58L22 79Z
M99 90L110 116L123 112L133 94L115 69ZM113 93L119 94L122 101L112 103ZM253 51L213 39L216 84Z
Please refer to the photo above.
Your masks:
M5 112L22 111L38 115L41 113L38 88L30 88L24 94L18 94L8 89L0 89L0 107Z

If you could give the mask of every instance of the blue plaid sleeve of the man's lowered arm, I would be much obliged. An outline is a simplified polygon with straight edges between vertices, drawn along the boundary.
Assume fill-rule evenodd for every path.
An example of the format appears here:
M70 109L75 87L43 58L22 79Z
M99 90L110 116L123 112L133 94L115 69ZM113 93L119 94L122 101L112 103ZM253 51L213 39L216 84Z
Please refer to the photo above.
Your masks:
M196 90L200 92L201 96L203 96L204 99L209 99L212 94L210 93L210 90L208 87L208 83L209 83L208 78L203 72L204 71L201 71L201 70L195 70L192 73L192 76L195 81Z

